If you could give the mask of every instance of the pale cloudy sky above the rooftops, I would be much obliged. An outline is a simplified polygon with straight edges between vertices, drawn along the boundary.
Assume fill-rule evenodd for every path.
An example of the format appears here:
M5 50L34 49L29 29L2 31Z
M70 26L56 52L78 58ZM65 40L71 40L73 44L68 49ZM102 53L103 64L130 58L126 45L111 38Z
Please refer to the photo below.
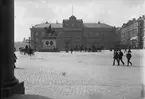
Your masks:
M145 15L145 0L15 0L15 41L30 36L30 28L46 21L62 23L72 15L83 22L121 27Z

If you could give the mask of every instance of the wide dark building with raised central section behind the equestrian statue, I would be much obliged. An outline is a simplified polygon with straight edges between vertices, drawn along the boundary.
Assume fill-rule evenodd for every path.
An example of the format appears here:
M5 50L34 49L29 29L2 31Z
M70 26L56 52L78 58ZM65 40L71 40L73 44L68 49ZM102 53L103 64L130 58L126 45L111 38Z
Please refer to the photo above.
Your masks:
M76 46L91 48L93 45L110 49L115 46L115 27L101 22L83 23L82 19L73 15L62 23L46 22L37 24L30 30L31 46L37 51L55 48L61 51Z

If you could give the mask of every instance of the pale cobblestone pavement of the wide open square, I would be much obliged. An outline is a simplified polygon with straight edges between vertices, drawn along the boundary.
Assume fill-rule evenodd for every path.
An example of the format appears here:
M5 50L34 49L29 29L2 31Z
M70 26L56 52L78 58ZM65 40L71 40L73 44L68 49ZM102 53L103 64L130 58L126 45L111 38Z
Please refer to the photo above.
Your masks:
M143 54L142 51L132 53L133 66L126 67L112 66L112 52L109 51L36 53L31 57L16 52L15 75L25 82L26 94L53 98L141 99Z

